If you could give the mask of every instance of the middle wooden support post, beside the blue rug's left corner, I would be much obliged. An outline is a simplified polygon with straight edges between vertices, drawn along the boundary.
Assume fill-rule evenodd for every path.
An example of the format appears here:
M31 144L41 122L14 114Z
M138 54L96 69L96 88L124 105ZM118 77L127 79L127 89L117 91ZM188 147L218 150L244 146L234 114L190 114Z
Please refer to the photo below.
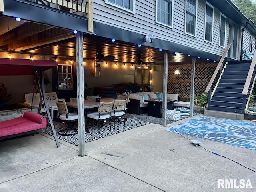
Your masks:
M167 78L168 78L168 51L164 51L164 72L163 72L163 126L166 127L167 110Z

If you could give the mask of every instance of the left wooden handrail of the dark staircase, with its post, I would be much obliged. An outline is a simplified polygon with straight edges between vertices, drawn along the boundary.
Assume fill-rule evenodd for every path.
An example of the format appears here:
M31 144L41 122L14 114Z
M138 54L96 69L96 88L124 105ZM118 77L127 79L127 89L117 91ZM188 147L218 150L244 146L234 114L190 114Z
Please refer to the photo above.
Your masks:
M212 75L212 78L210 79L210 81L209 81L209 83L208 83L208 85L207 85L207 87L206 87L206 89L204 91L205 94L208 94L208 108L210 106L210 101L211 101L212 84L213 84L213 82L214 82L214 80L215 80L215 78L216 78L216 76L217 76L217 74L218 74L218 72L220 70L220 67L222 66L222 63L223 63L224 59L226 58L226 54L228 53L228 50L229 50L231 44L232 43L229 43L228 46L226 47L222 57L220 58L220 61L219 61L218 65L217 65L217 67L216 67L216 69L215 69L215 71L214 71L214 73Z

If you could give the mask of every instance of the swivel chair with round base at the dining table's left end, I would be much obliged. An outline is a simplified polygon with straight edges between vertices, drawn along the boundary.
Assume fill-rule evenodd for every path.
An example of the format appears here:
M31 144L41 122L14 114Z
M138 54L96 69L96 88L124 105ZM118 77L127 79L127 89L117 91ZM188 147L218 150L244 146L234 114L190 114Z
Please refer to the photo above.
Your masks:
M61 120L68 123L68 126L66 129L60 130L58 132L59 135L63 136L70 136L70 135L76 135L78 134L78 130L74 129L74 125L78 121L78 114L77 112L68 112L68 107L65 102L65 99L59 99L56 101L56 105L58 107L58 112L61 114L59 117Z

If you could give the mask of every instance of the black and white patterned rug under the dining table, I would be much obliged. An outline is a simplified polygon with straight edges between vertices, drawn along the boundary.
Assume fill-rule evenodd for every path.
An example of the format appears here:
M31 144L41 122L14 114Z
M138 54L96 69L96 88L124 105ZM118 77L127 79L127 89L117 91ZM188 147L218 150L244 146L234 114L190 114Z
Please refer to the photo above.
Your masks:
M85 133L85 142L97 140L97 139L107 137L116 133L120 133L136 127L140 127L146 124L149 124L149 122L127 118L126 126L124 126L124 124L116 123L116 128L114 129L114 122L111 122L111 130L110 130L109 123L107 121L103 124L103 127L100 128L100 134L98 134L98 126L94 125L93 121L89 121L88 130L90 133ZM58 134L60 130L65 129L66 127L67 127L66 123L59 123L54 125L57 137L71 144L78 145L78 134L72 135L72 136L61 136ZM74 126L74 128L78 128L77 124ZM44 129L42 132L53 136L52 128L50 126L47 126L46 129Z

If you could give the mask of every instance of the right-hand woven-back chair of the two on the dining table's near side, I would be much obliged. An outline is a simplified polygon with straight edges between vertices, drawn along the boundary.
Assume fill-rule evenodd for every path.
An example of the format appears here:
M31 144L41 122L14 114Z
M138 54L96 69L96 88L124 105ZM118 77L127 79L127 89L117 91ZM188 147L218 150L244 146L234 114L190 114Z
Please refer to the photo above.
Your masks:
M127 99L125 100L115 100L114 102L114 106L113 106L113 110L111 110L111 117L114 119L114 129L116 128L116 120L118 120L120 122L120 124L122 124L122 121L120 120L121 117L124 118L124 110L126 108L126 104L127 104ZM125 125L125 120L124 122L124 126Z

